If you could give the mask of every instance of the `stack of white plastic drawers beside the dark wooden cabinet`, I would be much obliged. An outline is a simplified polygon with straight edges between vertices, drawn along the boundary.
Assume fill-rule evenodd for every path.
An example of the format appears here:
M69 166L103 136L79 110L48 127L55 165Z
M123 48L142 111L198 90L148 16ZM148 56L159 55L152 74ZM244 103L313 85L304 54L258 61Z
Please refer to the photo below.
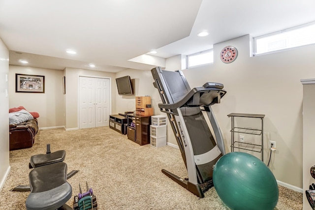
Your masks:
M166 116L151 116L150 144L154 147L166 146Z

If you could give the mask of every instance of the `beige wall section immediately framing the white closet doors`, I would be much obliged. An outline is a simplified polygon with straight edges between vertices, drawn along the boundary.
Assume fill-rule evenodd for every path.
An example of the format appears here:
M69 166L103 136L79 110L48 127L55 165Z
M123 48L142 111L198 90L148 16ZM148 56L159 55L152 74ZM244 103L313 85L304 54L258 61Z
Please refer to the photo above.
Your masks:
M113 82L115 73L104 71L65 69L65 127L67 130L78 129L78 81L79 76L107 77L111 79L112 92L115 90L116 83ZM116 87L117 89L117 87ZM111 93L112 112L115 111L115 94Z

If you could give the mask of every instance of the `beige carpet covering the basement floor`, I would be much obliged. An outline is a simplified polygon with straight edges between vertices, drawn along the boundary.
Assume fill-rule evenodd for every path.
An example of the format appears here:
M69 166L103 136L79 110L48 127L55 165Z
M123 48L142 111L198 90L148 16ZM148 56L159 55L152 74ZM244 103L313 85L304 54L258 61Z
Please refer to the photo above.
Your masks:
M23 210L30 192L12 192L17 185L28 185L30 157L51 150L66 150L68 172L80 172L68 179L73 196L79 183L93 188L99 210L228 210L215 188L198 198L166 175L166 169L180 177L187 171L179 149L140 146L109 127L64 131L40 130L32 148L10 151L11 171L1 191L1 210ZM85 188L83 188L85 191ZM302 193L279 186L276 210L302 210Z

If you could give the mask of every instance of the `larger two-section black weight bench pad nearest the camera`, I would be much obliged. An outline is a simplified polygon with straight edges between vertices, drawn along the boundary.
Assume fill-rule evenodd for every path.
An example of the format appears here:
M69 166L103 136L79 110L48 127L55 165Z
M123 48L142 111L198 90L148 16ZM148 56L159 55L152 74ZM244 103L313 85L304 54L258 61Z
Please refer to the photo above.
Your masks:
M53 163L30 172L31 193L26 200L27 210L56 210L72 195L72 187L66 181L67 165Z

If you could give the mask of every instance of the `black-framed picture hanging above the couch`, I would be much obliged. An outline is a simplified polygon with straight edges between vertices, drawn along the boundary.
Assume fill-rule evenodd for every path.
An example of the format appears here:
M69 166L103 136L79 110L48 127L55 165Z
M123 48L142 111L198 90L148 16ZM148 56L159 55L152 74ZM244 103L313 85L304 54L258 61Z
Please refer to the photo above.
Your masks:
M45 76L15 74L15 92L45 93Z

